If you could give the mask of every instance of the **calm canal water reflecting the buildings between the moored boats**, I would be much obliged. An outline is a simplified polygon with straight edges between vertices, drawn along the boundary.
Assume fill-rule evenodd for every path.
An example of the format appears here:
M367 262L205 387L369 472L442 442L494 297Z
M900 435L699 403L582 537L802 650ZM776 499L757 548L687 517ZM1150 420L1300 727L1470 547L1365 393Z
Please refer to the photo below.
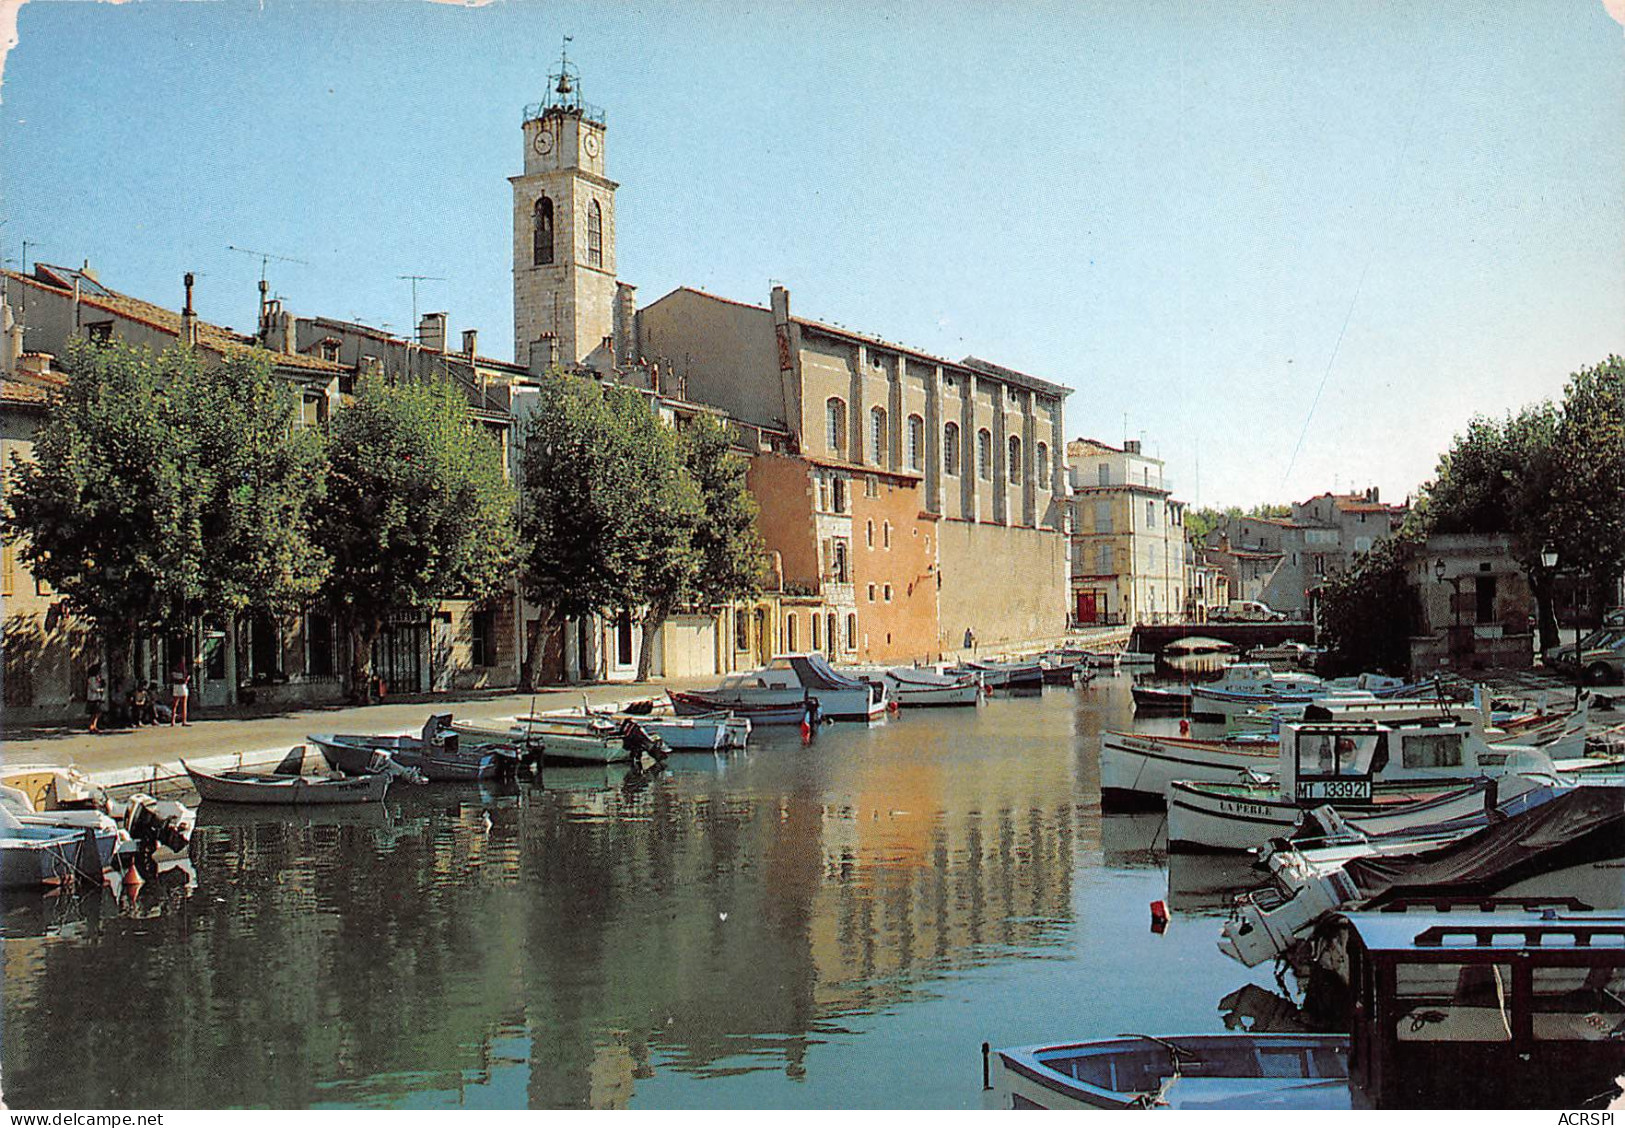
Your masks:
M975 1108L983 1040L1290 1029L1216 949L1245 865L1176 857L1170 889L1164 816L1100 811L1128 684L648 780L206 806L190 884L6 899L5 1099Z

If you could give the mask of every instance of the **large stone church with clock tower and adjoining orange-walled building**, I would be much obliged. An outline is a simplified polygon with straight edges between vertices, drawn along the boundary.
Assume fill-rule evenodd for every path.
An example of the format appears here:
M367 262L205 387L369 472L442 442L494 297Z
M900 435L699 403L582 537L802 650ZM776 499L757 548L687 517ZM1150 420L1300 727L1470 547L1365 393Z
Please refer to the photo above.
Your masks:
M726 413L785 598L752 649L907 662L1066 629L1071 388L679 288L637 310L616 278L601 111L567 62L525 112L514 185L514 348Z

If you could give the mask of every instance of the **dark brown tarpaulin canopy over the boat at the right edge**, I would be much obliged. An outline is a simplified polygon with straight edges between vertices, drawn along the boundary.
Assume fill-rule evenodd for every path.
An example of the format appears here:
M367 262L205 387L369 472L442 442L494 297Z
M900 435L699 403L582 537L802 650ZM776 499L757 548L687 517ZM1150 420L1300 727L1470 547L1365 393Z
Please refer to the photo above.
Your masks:
M1552 870L1615 857L1625 787L1576 787L1435 850L1354 858L1344 873L1375 907L1404 896L1488 896Z

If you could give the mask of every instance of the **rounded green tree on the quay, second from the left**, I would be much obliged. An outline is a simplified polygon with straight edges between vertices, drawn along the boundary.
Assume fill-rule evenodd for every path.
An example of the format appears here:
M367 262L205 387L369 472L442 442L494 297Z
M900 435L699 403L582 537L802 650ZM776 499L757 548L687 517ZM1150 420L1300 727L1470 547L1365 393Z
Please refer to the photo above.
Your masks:
M515 551L502 452L448 382L364 379L335 413L315 540L351 640L349 692L369 701L372 642L393 608L497 595Z

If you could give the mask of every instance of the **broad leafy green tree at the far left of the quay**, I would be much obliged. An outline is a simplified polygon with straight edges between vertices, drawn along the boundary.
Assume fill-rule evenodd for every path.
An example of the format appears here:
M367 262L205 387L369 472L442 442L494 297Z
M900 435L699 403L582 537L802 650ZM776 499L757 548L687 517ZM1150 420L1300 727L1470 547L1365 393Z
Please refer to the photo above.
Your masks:
M34 458L13 457L5 535L96 624L117 681L143 629L315 590L320 439L292 426L292 390L262 358L73 341L65 364Z

